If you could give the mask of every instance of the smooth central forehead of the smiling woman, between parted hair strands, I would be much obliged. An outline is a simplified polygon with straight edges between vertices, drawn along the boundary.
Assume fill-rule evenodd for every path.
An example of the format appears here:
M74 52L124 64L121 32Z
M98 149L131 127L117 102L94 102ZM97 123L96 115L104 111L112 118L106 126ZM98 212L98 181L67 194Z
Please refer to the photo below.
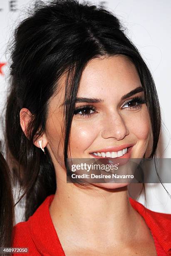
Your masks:
M82 73L79 94L125 94L141 86L134 64L126 56L112 56L91 60Z

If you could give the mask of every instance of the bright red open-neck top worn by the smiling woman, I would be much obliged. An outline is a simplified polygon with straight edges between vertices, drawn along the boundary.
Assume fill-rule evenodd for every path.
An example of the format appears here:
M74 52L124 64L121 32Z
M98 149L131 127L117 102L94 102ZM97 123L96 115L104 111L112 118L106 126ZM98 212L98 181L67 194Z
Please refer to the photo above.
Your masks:
M61 243L52 223L49 207L54 195L48 196L35 213L13 229L12 247L28 248L29 253L20 256L64 256ZM144 218L154 238L158 256L171 255L171 214L153 212L129 197L134 209ZM13 255L18 256L17 253Z

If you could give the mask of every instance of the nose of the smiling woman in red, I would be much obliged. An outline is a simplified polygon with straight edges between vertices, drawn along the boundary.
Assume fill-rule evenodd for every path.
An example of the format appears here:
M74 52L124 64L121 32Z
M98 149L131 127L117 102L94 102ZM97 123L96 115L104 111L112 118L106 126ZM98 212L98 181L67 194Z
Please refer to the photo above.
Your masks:
M129 130L126 127L124 119L117 112L109 113L105 116L102 124L101 135L103 138L115 138L120 141L129 134Z

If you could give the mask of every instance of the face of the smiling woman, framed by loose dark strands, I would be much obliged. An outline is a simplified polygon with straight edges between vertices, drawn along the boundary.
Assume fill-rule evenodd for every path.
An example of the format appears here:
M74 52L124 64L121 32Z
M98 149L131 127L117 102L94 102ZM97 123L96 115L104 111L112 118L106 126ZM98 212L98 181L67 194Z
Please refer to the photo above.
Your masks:
M60 83L61 90L50 101L46 129L47 149L57 170L65 169L62 136L64 77ZM138 100L131 102L134 97ZM77 98L97 100L88 100L90 103L82 100L75 105L75 108L84 106L84 109L75 110L69 158L144 156L149 141L150 119L146 104L141 103L144 92L139 75L129 59L120 55L90 61L82 73ZM122 151L124 148L127 148L127 153ZM110 152L111 155L107 153L105 156L102 152ZM66 177L66 172L60 175ZM116 188L126 184L97 185Z

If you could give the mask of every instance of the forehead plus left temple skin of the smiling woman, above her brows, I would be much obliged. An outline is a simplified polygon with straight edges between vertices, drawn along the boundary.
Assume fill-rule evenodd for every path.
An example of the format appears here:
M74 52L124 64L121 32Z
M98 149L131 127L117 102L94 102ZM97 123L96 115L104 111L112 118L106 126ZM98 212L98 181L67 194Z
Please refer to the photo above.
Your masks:
M59 80L59 90L50 101L52 108L64 101L66 75ZM121 96L141 86L134 64L124 55L92 59L82 72L77 97L102 98L114 102Z

